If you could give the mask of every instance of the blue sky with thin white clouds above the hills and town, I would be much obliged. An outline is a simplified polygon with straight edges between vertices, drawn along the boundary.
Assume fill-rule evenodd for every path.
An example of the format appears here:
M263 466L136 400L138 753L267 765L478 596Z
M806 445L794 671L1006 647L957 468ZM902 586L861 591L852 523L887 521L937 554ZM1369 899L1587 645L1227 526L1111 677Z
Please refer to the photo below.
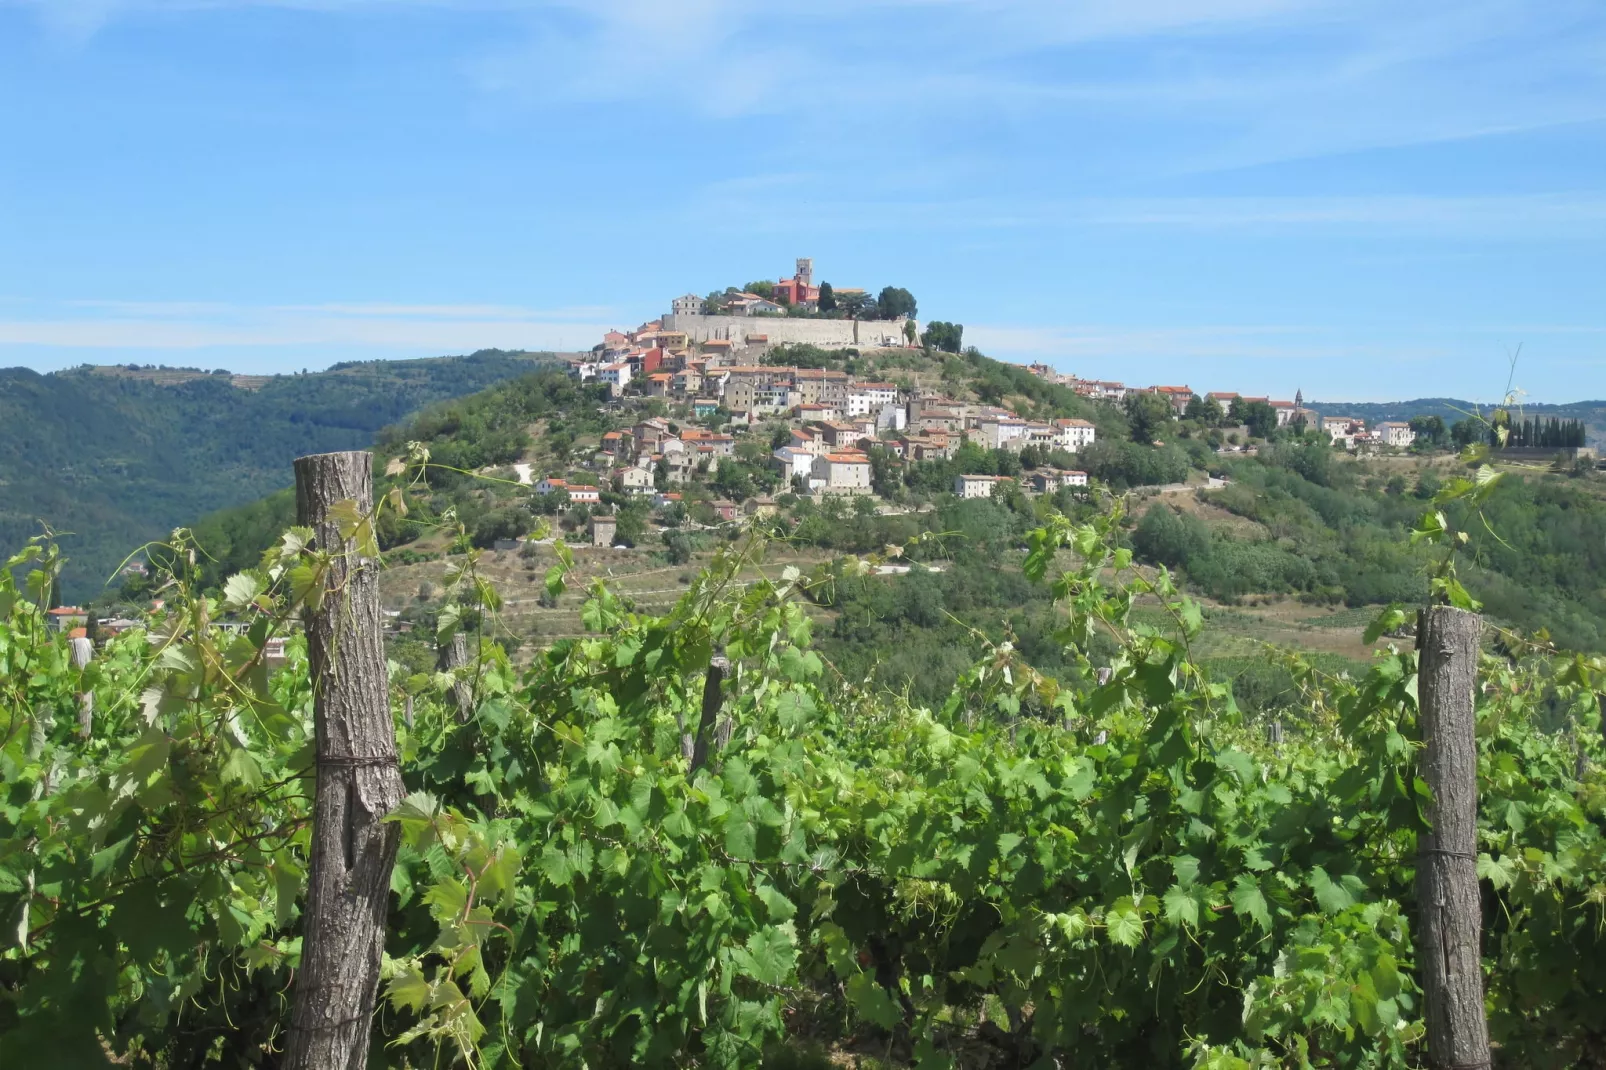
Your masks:
M0 0L0 366L586 347L813 255L1090 378L1606 397L1606 5Z

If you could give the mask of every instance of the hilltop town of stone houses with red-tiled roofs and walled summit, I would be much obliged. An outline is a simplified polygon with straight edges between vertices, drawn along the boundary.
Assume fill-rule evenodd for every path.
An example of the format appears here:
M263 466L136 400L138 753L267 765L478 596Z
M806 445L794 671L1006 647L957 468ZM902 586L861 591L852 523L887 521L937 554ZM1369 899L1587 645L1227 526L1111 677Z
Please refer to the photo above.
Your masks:
M612 329L589 352L565 357L578 382L605 387L613 426L594 455L580 458L583 477L520 464L520 482L541 496L593 506L599 543L613 537L613 525L596 519L609 513L596 508L605 498L639 496L657 509L675 508L687 487L716 487L721 464L739 447L747 463L761 447L771 477L745 503L713 496L710 519L771 509L764 490L816 500L877 496L877 458L901 466L978 451L1025 459L1018 474L1001 474L997 464L956 471L944 490L960 498L1089 485L1076 458L1099 440L1097 419L956 397L952 384L930 374L930 363L922 378L915 357L957 355L962 328L931 323L922 331L914 313L907 291L887 288L870 299L866 289L816 283L809 259L798 259L792 276L774 283L676 297L670 313L634 329ZM874 371L866 374L867 368ZM898 371L888 374L888 368ZM1206 429L1217 453L1254 453L1257 442L1278 432L1325 432L1344 450L1404 450L1416 439L1404 421L1368 427L1357 418L1317 413L1302 394L1293 400L1200 394L1190 386L1086 379L1042 363L1017 368L1066 387L1092 408L1090 416L1102 410L1140 423L1147 411L1155 419L1192 421ZM1156 424L1153 437L1163 434ZM972 450L962 453L964 447Z

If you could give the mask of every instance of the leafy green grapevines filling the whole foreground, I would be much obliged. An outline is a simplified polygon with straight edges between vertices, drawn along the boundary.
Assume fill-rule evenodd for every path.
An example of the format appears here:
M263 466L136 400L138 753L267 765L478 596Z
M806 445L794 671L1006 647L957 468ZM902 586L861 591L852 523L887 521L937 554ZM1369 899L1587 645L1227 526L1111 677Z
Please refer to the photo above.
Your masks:
M406 493L365 493L215 591L175 533L93 657L47 630L48 541L0 570L0 1065L1457 1065L1408 638L1359 678L1288 655L1298 699L1246 717L1111 504L1031 537L1070 672L994 643L936 709L811 649L805 602L877 559L769 569L758 533L662 614L593 583L528 668L466 553L466 657L410 675L361 604ZM1490 628L1476 660L1492 1064L1458 1065L1606 1068L1606 662Z

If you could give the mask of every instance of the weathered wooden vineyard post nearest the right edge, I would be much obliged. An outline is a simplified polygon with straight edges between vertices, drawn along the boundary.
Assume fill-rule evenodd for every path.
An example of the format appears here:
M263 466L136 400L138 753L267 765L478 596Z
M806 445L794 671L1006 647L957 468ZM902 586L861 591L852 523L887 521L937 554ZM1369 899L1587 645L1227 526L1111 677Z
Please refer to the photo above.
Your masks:
M1420 961L1428 1060L1439 1070L1489 1062L1482 908L1478 895L1478 741L1473 707L1482 619L1452 606L1423 614L1416 649L1423 779L1433 790L1418 842Z

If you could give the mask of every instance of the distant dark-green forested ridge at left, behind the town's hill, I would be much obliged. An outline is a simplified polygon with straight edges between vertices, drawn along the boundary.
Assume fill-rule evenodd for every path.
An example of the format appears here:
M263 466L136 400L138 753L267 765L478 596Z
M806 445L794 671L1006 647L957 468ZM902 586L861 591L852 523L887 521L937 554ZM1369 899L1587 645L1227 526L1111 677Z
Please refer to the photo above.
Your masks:
M530 371L538 353L336 365L241 379L159 370L0 370L0 549L61 537L61 594L92 598L146 540L284 487L304 453L366 447L432 402Z

